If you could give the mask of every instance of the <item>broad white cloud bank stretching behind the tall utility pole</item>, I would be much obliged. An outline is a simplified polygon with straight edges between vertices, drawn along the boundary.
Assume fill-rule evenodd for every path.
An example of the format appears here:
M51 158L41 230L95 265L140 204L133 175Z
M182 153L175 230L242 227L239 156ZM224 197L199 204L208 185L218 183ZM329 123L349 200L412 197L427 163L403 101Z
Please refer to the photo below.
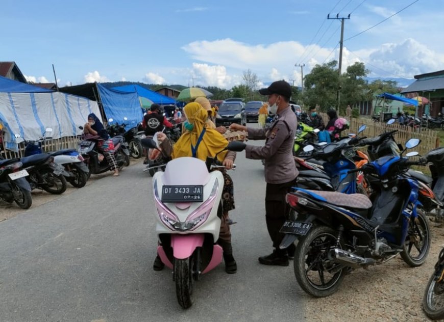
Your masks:
M376 48L361 47L359 50L349 50L346 46L347 44L342 52L343 72L348 66L362 61L366 68L371 70L371 76L411 78L416 74L440 70L444 65L443 54L413 38ZM203 77L207 79L208 84L225 88L234 84L234 75L241 75L242 71L248 68L258 75L261 82L285 79L291 83L290 79L294 79L294 85L300 86L301 70L294 67L295 63L305 62L303 72L306 75L316 64L339 59L339 48L333 52L332 48L320 48L317 45L311 45L308 50L305 48L295 41L250 45L232 39L195 41L182 47L191 58L204 62L193 65L205 70L201 73L213 75L214 78ZM310 51L312 53L306 59L297 61L304 52ZM237 76L237 79L240 80L241 76Z

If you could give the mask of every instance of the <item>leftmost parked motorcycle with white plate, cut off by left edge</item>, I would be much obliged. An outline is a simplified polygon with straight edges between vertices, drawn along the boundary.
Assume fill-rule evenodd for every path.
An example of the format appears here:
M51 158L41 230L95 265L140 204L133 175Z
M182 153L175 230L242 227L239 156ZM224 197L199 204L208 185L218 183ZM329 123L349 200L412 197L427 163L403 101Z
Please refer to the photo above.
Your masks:
M0 157L0 199L28 209L32 205L31 185L25 179L28 171L22 169L19 159L2 159Z

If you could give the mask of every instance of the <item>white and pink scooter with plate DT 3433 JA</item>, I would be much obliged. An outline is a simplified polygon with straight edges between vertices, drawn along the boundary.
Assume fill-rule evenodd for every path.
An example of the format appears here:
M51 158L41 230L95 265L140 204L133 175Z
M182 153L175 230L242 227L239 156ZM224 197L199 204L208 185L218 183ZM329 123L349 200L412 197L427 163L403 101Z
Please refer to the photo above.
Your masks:
M142 141L145 147L157 148L151 139ZM230 142L227 149L242 151L244 147L241 142ZM153 177L157 252L165 266L173 270L177 299L185 309L192 305L193 282L222 261L223 251L216 240L224 177L219 171L209 170L225 167L215 165L216 156L207 162L176 158L167 163L165 172L156 172Z

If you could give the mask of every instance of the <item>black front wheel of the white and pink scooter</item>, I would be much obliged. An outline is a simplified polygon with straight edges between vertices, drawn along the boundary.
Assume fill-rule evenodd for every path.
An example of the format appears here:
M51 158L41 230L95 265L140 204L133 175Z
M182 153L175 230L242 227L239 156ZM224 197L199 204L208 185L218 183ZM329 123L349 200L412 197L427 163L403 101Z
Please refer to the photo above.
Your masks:
M179 305L187 309L192 305L191 294L193 292L192 256L185 259L175 259L174 280L176 281L176 295Z

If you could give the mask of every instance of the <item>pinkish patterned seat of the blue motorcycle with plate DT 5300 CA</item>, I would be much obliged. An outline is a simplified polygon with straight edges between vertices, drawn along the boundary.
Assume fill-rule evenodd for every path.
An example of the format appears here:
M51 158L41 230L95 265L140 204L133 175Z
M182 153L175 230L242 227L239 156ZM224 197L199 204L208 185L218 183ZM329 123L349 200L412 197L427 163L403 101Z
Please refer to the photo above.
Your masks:
M303 191L319 201L328 202L336 206L355 209L369 209L372 207L372 201L362 194L348 195L333 191L297 190Z

